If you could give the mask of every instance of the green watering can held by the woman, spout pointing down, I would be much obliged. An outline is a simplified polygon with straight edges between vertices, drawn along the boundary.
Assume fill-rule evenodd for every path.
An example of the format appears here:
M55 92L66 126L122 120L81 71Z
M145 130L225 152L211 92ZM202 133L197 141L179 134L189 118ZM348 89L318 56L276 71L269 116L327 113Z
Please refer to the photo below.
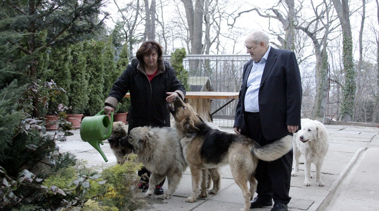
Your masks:
M80 124L80 138L83 141L88 142L100 152L105 162L108 162L105 154L101 151L100 144L104 145L103 140L109 138L113 129L113 112L111 113L111 121L106 116L104 110L100 111L93 117L85 117Z

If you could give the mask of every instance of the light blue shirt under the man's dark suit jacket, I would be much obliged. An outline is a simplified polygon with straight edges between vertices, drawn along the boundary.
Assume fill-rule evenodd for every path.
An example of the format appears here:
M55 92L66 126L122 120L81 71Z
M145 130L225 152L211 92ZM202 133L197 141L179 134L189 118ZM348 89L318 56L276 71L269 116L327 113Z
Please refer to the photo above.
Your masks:
M266 54L264 54L261 61L258 63L253 61L253 67L251 68L247 86L248 89L245 94L245 111L246 112L259 112L259 104L258 104L258 93L260 82L262 79L263 69L266 65L268 52L270 51L271 46L268 46Z

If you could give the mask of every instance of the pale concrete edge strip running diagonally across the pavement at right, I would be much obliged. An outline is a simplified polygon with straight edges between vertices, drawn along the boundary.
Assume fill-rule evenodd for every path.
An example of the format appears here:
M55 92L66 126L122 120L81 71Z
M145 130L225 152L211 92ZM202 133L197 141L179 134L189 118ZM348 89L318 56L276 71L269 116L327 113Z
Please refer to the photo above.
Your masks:
M324 198L324 200L318 205L318 207L315 209L315 211L322 211L322 210L328 210L328 206L330 206L330 202L335 197L337 193L337 189L339 188L342 181L347 177L349 173L351 173L351 169L354 167L354 165L357 165L357 160L362 157L363 152L367 151L368 147L362 147L358 149L353 157L351 157L350 161L347 163L345 168L341 171L341 173L338 175L337 179L334 180L332 183L332 186L329 188L329 194Z

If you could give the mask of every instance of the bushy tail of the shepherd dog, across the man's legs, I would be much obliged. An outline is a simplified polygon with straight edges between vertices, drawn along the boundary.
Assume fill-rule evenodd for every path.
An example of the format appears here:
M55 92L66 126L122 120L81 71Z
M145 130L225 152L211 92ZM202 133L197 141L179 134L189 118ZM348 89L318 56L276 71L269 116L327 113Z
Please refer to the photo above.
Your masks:
M251 152L262 161L275 161L292 149L292 136L287 135L277 141L260 148L252 148Z

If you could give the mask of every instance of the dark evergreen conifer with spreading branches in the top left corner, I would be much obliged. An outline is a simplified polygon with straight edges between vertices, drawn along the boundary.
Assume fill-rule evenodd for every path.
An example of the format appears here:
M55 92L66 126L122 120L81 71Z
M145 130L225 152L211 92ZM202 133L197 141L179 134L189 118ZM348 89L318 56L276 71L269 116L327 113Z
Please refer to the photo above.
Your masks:
M0 2L0 44L7 61L0 72L6 73L0 81L3 88L15 78L19 83L37 82L40 75L41 52L61 43L86 39L100 29L103 21L96 21L101 13L102 0L51 0ZM104 16L106 18L107 15ZM45 42L38 37L45 34ZM3 75L3 74L2 74ZM33 96L33 116L38 117L38 94Z

